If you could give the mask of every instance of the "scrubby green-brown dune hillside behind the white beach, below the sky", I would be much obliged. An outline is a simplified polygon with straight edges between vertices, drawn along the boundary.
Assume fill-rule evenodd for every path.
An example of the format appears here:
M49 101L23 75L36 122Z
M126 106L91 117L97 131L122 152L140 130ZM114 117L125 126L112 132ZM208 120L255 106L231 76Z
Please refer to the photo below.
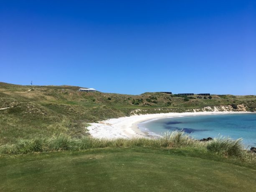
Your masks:
M124 95L98 91L83 93L77 91L79 88L0 83L0 144L35 135L63 133L80 137L87 134L84 127L88 123L132 114L195 110L256 111L256 96Z

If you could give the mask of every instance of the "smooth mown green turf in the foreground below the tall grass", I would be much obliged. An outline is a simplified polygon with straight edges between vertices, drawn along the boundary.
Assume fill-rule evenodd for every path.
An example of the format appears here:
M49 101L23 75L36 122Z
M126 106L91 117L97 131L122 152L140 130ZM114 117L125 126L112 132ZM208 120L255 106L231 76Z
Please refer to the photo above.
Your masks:
M3 156L0 170L1 192L256 191L253 167L181 149L107 148Z

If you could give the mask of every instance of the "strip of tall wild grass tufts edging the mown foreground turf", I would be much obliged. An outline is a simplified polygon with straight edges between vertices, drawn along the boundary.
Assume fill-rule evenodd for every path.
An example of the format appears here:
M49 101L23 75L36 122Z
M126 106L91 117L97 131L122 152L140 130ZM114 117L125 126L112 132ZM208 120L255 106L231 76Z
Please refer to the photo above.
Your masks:
M193 148L195 151L209 151L222 157L230 157L248 164L256 164L256 154L244 149L241 139L232 140L226 137L214 138L203 142L190 138L183 131L166 132L159 139L133 138L133 139L96 139L89 136L72 138L59 135L51 138L18 139L16 144L0 146L0 154L27 154L32 152L79 151L86 149L108 147L153 147L182 149Z

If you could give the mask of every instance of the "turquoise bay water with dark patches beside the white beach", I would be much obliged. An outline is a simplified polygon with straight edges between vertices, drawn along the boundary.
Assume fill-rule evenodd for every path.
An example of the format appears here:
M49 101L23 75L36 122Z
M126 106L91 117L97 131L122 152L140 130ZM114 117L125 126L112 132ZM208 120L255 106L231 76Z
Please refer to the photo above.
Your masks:
M152 119L140 123L139 129L150 135L161 135L166 131L183 130L195 139L230 136L243 138L245 146L256 146L256 114L221 114L180 116Z

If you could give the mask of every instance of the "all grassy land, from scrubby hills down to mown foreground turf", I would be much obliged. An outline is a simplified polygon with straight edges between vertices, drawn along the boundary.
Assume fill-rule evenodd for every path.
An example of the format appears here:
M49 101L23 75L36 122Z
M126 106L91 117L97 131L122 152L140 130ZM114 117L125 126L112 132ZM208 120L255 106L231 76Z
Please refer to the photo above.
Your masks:
M241 142L205 143L179 132L104 140L86 136L85 129L132 114L255 111L256 96L78 89L0 83L0 191L256 191L256 156Z

